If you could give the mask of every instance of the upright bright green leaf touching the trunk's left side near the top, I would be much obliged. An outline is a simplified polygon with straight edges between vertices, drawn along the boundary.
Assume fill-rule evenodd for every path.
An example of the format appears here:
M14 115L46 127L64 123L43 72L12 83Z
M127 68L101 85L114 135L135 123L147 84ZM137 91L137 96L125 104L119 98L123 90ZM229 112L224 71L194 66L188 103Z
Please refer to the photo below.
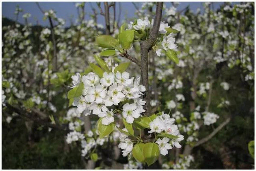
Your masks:
M119 33L119 43L123 49L130 49L134 41L134 30L124 30Z

